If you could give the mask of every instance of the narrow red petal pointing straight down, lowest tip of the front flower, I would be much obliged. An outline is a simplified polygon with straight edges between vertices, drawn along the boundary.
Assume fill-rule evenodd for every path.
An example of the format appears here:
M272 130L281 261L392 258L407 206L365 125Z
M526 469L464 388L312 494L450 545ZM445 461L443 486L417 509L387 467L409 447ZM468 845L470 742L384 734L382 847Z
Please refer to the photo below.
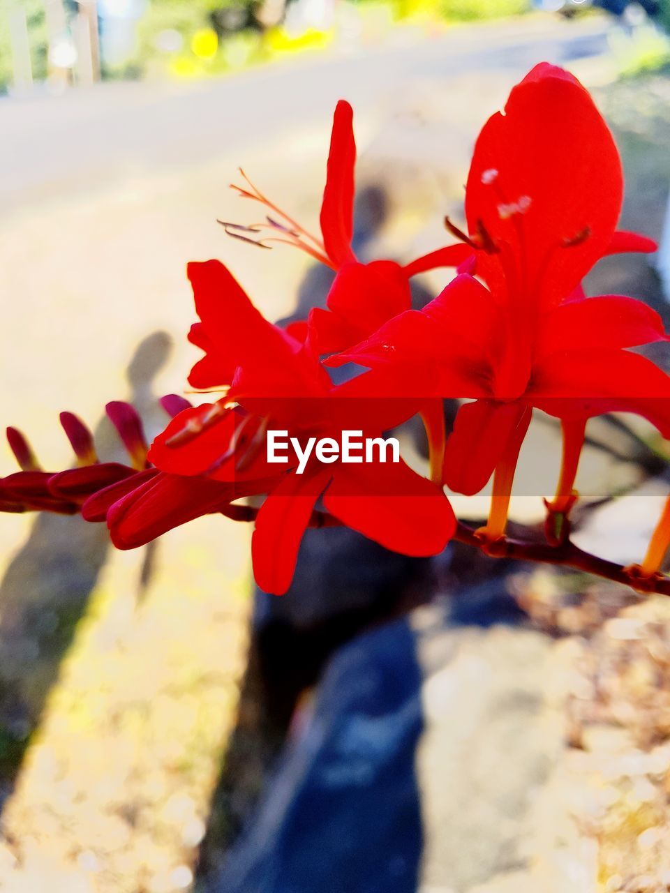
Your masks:
M284 476L258 512L251 538L255 581L264 592L283 595L296 569L297 550L314 503L331 472Z

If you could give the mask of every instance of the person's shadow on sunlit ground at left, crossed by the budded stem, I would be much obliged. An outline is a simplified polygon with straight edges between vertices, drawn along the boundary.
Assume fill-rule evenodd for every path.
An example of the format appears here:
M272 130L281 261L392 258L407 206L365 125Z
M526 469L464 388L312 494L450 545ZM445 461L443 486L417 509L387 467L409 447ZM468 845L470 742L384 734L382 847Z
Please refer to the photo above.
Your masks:
M155 413L152 382L170 354L163 332L138 345L127 370L130 402L146 418ZM104 417L96 446L105 458L124 461L116 432ZM29 537L0 582L0 784L4 800L13 788L30 736L86 611L110 547L104 524L79 515L39 514ZM138 580L146 588L155 559L147 548Z

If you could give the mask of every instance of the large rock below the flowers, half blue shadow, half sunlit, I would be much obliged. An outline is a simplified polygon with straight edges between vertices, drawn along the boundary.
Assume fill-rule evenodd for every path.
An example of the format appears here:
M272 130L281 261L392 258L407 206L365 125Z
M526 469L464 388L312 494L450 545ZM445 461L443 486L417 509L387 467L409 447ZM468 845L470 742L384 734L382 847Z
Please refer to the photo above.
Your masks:
M518 871L560 747L549 638L423 607L341 647L213 893L457 891Z

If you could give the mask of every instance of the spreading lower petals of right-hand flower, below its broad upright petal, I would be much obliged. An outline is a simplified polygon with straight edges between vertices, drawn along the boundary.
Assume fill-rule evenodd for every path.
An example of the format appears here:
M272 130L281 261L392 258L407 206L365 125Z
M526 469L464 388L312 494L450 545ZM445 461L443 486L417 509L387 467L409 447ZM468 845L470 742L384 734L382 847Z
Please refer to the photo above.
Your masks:
M478 492L523 439L532 406L572 422L639 413L670 436L670 378L624 349L666 339L657 313L621 296L550 307L532 326L521 312L463 274L423 311L401 314L327 363L354 361L387 381L395 374L415 396L476 398L459 410L445 453L445 482L465 494ZM524 349L518 329L530 339Z

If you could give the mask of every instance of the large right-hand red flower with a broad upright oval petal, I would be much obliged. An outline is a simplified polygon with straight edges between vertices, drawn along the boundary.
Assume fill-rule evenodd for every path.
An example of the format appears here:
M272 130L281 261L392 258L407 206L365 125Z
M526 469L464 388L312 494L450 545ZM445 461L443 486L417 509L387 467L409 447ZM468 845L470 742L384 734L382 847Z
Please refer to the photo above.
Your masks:
M490 291L464 276L328 364L402 370L417 396L479 397L458 413L445 455L445 480L464 493L500 463L514 471L529 405L574 422L570 438L617 408L668 431L656 402L666 375L622 349L665 338L659 317L631 298L585 299L580 286L603 255L654 248L615 231L622 196L616 146L589 94L567 72L536 66L484 125L467 181L473 235L463 238Z

